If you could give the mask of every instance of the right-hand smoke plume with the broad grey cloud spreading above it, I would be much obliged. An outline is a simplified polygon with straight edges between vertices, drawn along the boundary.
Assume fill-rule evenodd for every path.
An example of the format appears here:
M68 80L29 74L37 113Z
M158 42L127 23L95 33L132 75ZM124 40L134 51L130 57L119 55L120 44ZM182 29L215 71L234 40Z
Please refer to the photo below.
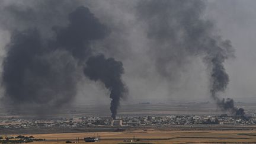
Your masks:
M234 49L231 41L223 40L215 32L214 24L203 18L204 9L200 0L140 1L137 15L147 28L158 72L173 79L190 57L202 57L210 74L212 98L222 110L236 114L232 112L238 111L233 100L225 102L219 98L229 83L223 63L234 57Z

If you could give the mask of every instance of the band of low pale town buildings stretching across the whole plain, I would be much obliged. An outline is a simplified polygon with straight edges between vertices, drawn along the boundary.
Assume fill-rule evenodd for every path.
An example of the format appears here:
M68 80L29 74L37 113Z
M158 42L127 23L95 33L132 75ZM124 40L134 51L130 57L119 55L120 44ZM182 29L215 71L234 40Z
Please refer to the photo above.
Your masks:
M76 117L57 120L1 119L0 128L41 128L41 127L92 127L92 126L166 126L186 124L256 124L256 117L242 119L228 116L132 116L111 120L110 117Z

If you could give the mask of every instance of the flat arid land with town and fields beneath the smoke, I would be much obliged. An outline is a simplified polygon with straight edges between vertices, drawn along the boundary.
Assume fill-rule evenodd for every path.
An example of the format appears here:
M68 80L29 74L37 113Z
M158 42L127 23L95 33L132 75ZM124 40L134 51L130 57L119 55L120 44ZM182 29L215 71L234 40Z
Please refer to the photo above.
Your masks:
M247 113L255 113L254 104L239 103L239 106L244 107ZM184 109L184 107L187 108ZM12 116L11 113L2 111L0 136L17 137L18 135L23 135L33 136L36 139L45 139L41 142L32 143L66 143L67 141L84 143L84 138L90 136L100 137L100 143L109 144L131 143L128 142L130 140L135 140L135 142L132 143L162 144L256 143L255 124L238 123L239 121L237 120L240 119L234 119L235 123L232 124L196 124L196 121L193 122L194 124L191 122L183 123L184 120L190 120L192 117L199 117L201 121L206 121L207 117L216 117L222 120L223 118L220 117L221 111L216 110L214 104L177 103L124 105L120 109L119 114L120 119L123 119L123 124L125 124L123 126L111 126L109 123L110 117L95 117L100 115L106 116L107 111L104 111L106 108L85 108L85 106L79 106L73 107L68 113L66 113L64 109L59 116L49 115L43 118L18 113L12 113L14 114ZM11 108L8 110L12 111ZM136 113L132 112L134 110L137 110ZM137 114L140 114L140 116L137 116ZM121 118L122 116L123 118ZM64 119L63 117L69 118ZM171 117L174 117L174 119ZM184 118L184 120L181 118ZM180 122L178 122L179 119ZM232 120L232 117L225 119ZM93 121L97 120L101 122L98 121L98 124L94 124ZM254 117L252 117L251 120L252 122L255 121ZM142 123L143 121L144 123ZM161 122L154 123L154 121ZM182 125L170 123L171 121L181 123ZM83 125L78 126L79 123ZM198 121L198 123L200 123L200 121ZM137 125L134 126L133 124Z

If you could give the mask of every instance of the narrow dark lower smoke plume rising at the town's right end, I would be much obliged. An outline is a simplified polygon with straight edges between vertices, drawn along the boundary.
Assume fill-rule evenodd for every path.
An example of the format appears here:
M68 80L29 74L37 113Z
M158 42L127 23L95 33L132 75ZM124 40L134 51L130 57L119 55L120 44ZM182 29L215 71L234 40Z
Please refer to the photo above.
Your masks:
M218 97L219 92L225 92L229 84L229 75L225 71L223 63L225 59L228 59L228 55L223 52L225 49L230 49L231 44L225 42L222 44L223 48L216 47L216 53L214 55L204 57L206 62L209 64L210 69L210 93L212 98L216 101L217 105L223 111L228 111L233 116L241 117L242 119L247 120L243 108L236 108L232 98L223 98L222 100Z

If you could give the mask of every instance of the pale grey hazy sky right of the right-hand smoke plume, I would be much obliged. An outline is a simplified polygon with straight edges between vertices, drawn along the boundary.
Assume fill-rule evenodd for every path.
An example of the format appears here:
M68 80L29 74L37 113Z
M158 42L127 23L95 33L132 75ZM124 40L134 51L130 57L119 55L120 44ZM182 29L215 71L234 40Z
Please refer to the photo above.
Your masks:
M225 0L209 1L206 9L207 17L215 21L219 33L231 40L236 50L236 58L226 63L231 79L227 94L241 101L256 96L255 6L253 0Z

